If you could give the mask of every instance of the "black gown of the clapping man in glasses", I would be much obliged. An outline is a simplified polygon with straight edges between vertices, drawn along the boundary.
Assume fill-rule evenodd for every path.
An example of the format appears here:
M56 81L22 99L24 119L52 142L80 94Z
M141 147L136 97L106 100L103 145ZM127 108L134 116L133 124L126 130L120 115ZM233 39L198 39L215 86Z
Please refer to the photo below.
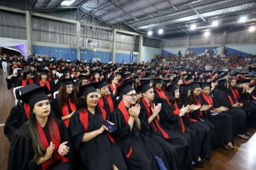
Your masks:
M125 117L119 108L114 110L112 116L112 120L114 121L115 126L117 126L117 130L115 131L117 143L121 148L128 169L159 169L154 159L154 155L157 155L164 160L163 149L157 143L152 141L151 138L146 137L137 128L135 122L130 131L130 125L126 124ZM127 158L126 155L129 153L130 146L132 152L129 158Z

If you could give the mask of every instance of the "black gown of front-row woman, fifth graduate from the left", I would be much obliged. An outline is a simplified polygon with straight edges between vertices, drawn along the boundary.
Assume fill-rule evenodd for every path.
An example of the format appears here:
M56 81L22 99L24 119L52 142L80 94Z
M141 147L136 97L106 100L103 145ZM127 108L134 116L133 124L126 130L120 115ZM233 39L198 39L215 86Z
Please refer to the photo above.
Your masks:
M187 139L189 145L189 151L193 162L197 162L199 158L199 146L197 141L196 133L185 126L185 116L183 117L183 124L185 131L183 133L180 116L174 114L171 106L168 104L167 100L162 103L161 111L159 112L160 124L163 125L165 129L174 131L175 133L183 136Z

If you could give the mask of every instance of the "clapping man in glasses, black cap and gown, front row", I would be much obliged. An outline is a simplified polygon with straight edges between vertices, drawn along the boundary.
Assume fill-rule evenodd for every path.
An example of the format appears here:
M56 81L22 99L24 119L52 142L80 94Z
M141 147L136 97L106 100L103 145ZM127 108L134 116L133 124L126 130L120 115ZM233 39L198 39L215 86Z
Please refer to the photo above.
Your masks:
M117 130L115 135L121 147L128 169L159 169L155 156L163 161L163 149L151 138L141 132L141 121L138 116L141 107L136 104L136 92L132 87L132 80L124 82L117 88L121 101L112 113ZM168 163L165 162L165 166Z

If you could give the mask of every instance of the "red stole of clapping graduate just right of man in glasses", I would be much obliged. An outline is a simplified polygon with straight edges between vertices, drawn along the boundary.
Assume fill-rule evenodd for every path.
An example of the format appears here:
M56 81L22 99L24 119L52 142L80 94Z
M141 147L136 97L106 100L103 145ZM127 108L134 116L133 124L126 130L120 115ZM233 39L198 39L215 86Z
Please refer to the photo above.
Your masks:
M144 107L146 108L147 116L150 117L151 116L150 108L148 107L147 101L145 100L144 97L142 98L142 103L144 104ZM150 101L150 107L152 110L154 110L154 104L152 101ZM163 135L164 138L166 138L166 139L169 138L168 133L161 128L156 117L154 118L154 120L152 120L151 124L154 127L154 131L157 131L159 129L159 131L161 132L161 134Z

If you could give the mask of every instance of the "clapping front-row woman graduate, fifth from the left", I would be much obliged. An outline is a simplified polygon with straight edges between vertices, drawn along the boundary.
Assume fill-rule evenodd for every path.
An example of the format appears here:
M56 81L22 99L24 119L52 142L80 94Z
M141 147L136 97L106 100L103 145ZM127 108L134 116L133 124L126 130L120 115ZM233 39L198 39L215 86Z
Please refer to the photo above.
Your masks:
M184 88L185 99L183 101L188 98L188 89ZM166 91L168 92L168 97L163 101L162 109L159 113L160 124L187 139L191 159L196 167L201 168L203 167L203 161L199 156L197 135L185 124L188 107L184 107L184 105L187 106L187 103L182 103L183 107L181 107L179 88L175 84L167 86Z

